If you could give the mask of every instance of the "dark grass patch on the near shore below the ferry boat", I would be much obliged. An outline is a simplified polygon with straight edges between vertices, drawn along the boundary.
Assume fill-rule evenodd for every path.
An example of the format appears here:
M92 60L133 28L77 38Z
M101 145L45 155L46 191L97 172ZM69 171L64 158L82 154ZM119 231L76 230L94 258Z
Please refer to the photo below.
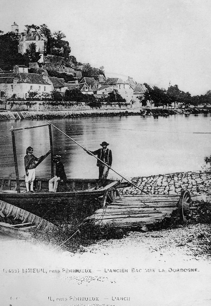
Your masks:
M77 232L76 232L77 231ZM71 222L64 222L57 230L52 232L36 232L34 237L38 241L59 246L68 238L61 248L69 252L85 252L83 247L93 244L99 240L122 239L127 235L126 229L115 226L113 223L99 224L94 220L80 222L74 218ZM76 232L76 233L75 233Z

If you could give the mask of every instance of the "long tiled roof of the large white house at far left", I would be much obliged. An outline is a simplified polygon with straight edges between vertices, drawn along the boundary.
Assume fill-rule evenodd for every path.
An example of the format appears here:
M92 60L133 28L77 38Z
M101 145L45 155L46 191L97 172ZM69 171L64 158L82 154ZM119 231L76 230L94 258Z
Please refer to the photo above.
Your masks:
M18 80L18 83L50 85L49 83L45 82L45 80L43 80L40 75L36 73L2 73L1 77L13 77L14 79Z

